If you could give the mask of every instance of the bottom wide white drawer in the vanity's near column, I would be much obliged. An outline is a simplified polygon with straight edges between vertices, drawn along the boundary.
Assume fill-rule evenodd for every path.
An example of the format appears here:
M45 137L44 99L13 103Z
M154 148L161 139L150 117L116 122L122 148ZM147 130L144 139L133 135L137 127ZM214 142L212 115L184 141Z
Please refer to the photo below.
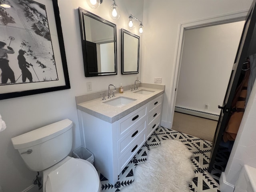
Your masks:
M118 158L118 174L125 168L128 162L136 154L136 152L141 148L141 146L146 141L145 134L143 134L134 144L127 149L127 152L124 153L120 158Z

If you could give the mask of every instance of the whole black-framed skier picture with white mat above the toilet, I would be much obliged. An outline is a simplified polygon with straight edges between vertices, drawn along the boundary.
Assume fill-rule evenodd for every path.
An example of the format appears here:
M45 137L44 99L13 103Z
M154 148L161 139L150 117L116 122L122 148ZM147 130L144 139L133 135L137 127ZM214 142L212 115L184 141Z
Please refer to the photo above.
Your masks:
M0 100L70 88L57 0L0 0Z

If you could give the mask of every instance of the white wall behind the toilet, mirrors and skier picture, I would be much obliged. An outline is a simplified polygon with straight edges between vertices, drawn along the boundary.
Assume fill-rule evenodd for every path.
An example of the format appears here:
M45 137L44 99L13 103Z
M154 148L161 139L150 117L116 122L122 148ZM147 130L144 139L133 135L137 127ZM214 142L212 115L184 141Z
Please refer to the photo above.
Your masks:
M71 89L0 100L0 114L7 125L6 130L0 132L0 186L4 192L20 192L32 185L36 176L36 172L28 170L18 151L13 148L12 137L69 118L74 122L72 149L78 148L81 140L75 96L88 93L86 82L92 82L92 92L96 92L106 90L108 84L120 86L122 83L125 86L133 84L137 76L140 79L140 74L121 75L120 29L128 30L126 24L130 13L143 20L143 0L117 1L121 14L117 21L108 14L112 0L104 0L97 10L90 9L85 0L59 0L58 3ZM118 75L85 78L79 6L117 24ZM138 34L136 30L131 32Z

